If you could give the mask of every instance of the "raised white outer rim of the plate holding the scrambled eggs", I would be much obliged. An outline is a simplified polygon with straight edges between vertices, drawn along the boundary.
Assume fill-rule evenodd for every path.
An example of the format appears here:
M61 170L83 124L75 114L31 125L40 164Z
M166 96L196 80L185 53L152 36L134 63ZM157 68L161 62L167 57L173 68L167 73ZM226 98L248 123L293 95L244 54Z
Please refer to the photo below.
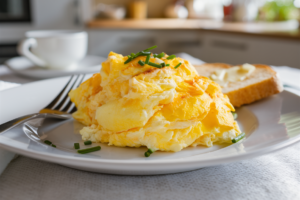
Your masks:
M40 80L40 81L26 83L26 84L23 84L21 86L15 87L15 88L0 91L0 94L13 92L14 90L20 90L24 86L35 85L41 81L51 82L51 81L55 81L56 79L64 79L67 77L69 77L69 76L63 76L63 77L57 77L57 78L52 78L52 79L46 79L46 80ZM288 90L284 90L282 93L288 93L288 94L294 96L295 98L300 99L299 95L297 95L293 92L290 92ZM0 134L0 137L1 137L1 134ZM177 159L175 158L175 159L166 159L166 160L163 160L163 159L151 160L151 159L147 159L147 158L145 158L144 160L110 160L110 159L95 159L95 158L82 158L82 157L79 158L79 157L71 157L71 156L64 156L64 155L57 155L57 154L51 155L49 153L36 152L36 151L30 150L30 149L27 149L27 151L24 151L24 149L22 149L22 148L14 147L14 146L11 146L8 144L3 144L1 141L0 141L0 147L3 149L6 149L8 151L24 155L24 156L28 156L28 157L32 157L35 159L48 161L48 162L58 163L58 164L63 163L66 165L67 165L67 161L72 161L72 162L85 161L85 164L87 164L86 162L88 162L89 164L105 164L105 165L122 164L122 165L143 165L143 166L144 165L157 165L157 164L160 164L160 165L164 165L164 164L190 165L190 164L199 164L199 162L202 162L201 163L201 167L202 167L202 166L213 166L213 165L225 164L225 163L230 163L230 162L236 162L238 160L251 159L254 157L266 155L266 154L287 148L287 147L299 142L299 140L300 140L300 135L297 135L293 138L288 138L286 140L282 140L277 144L273 144L271 146L267 146L267 147L264 147L264 148L261 148L258 150L253 150L246 154L229 155L229 156L225 155L222 157L215 157L215 158L210 158L210 159L206 158L205 160L197 159L197 158L195 160L194 159L186 160L184 158L177 158ZM239 145L241 142L232 144L232 145ZM258 155L258 154L260 154L260 155ZM196 155L189 156L189 158L195 157L195 156ZM80 162L78 162L78 163L80 163Z

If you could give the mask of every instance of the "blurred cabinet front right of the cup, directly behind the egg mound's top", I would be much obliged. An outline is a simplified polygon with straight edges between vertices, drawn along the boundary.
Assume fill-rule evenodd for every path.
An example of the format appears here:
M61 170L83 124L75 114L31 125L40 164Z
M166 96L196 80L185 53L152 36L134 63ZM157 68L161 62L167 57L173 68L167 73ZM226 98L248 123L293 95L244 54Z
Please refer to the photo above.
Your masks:
M110 51L123 55L157 45L155 53L186 52L201 56L202 36L198 31L178 30L90 30L89 53L107 56Z

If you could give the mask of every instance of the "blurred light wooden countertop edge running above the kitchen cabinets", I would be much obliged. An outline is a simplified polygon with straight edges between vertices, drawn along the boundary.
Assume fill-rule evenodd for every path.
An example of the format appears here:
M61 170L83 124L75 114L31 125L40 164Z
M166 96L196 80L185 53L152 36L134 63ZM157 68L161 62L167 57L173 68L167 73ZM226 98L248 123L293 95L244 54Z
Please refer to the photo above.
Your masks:
M283 37L300 39L298 21L284 22L223 22L204 19L145 19L145 20L92 20L87 23L90 29L188 29L219 31L239 34L251 34L259 36Z

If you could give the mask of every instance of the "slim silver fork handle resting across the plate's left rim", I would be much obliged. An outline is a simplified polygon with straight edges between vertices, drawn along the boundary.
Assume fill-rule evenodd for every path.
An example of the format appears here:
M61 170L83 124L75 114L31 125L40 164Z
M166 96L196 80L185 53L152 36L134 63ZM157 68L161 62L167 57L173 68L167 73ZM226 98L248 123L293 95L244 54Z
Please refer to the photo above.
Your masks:
M27 121L30 121L32 119L36 118L56 118L56 119L69 119L71 115L69 114L49 114L49 113L34 113L30 115L25 115L22 117L18 117L16 119L13 119L11 121L8 121L4 124L0 125L0 135L22 123L25 123Z

